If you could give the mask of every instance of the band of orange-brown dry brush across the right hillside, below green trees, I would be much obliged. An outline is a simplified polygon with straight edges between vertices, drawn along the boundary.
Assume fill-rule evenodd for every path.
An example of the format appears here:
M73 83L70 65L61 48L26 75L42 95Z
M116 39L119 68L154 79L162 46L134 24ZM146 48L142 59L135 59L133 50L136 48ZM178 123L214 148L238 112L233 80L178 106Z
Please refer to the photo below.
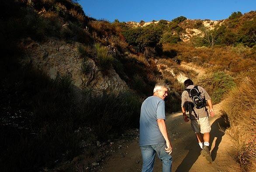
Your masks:
M252 49L241 50L239 47L201 47L195 48L186 43L163 44L163 51L174 50L181 61L197 65L214 66L218 70L232 73L253 71L256 68L255 53ZM239 52L235 52L239 51Z

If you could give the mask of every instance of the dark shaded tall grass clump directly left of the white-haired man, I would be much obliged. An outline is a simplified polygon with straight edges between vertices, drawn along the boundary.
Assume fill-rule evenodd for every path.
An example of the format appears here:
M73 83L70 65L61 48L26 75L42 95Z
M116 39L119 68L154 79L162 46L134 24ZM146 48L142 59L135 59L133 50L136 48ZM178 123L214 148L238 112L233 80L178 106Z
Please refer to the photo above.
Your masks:
M135 93L92 94L84 92L84 113L88 125L92 125L100 140L114 138L125 129L138 127L142 100Z

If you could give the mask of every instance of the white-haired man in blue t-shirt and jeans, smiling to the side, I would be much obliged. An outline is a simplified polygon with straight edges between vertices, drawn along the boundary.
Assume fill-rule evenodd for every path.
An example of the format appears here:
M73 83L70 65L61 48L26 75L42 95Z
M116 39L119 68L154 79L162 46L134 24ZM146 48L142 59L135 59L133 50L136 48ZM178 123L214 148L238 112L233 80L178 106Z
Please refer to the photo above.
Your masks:
M152 172L155 154L163 162L163 172L171 172L172 145L167 134L165 101L170 88L156 84L153 95L142 103L140 114L139 145L142 152L142 172Z

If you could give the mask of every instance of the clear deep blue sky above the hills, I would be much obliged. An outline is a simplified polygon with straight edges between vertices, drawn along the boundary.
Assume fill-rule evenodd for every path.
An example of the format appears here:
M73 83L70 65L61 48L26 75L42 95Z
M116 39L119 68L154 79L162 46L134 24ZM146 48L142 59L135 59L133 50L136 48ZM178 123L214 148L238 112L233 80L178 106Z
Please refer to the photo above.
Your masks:
M114 21L226 19L234 11L256 10L256 0L78 0L87 16Z

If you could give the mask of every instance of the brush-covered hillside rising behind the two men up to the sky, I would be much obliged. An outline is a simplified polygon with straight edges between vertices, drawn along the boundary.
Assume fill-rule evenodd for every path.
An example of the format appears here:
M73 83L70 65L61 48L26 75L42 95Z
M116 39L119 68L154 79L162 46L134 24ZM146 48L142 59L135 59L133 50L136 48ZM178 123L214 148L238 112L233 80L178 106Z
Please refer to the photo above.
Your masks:
M186 78L217 104L256 76L255 11L223 21L110 23L86 16L76 0L10 0L0 13L3 171L54 169L97 155L99 142L138 128L142 101L157 82L170 85L166 110L176 112ZM253 131L251 123L243 127ZM254 148L239 149L246 170Z

